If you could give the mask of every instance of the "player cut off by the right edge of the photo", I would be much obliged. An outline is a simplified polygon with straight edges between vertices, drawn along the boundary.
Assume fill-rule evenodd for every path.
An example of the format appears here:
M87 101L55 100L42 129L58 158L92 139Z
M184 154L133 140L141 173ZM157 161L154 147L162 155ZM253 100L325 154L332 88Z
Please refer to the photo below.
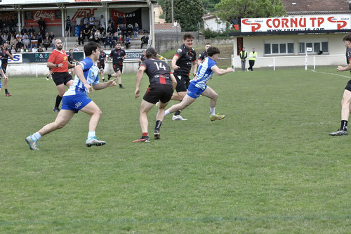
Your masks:
M347 33L343 38L346 47L346 63L347 66L338 66L336 69L338 72L351 70L351 33ZM350 104L351 104L351 79L347 82L343 98L341 99L341 126L338 131L330 133L330 136L343 136L348 135L347 122L350 116Z

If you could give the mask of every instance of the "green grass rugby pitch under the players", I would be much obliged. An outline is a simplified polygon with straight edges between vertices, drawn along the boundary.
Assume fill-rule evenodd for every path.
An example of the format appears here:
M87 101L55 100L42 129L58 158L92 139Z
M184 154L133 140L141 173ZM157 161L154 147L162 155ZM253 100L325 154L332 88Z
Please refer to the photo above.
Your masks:
M107 145L86 148L89 117L79 112L38 151L25 137L55 119L55 85L10 79L13 96L0 93L0 233L351 231L351 136L328 135L340 127L347 77L303 68L214 76L225 119L210 122L201 97L183 111L187 122L164 119L161 140L132 143L141 98L135 74L123 74L126 89L91 94Z

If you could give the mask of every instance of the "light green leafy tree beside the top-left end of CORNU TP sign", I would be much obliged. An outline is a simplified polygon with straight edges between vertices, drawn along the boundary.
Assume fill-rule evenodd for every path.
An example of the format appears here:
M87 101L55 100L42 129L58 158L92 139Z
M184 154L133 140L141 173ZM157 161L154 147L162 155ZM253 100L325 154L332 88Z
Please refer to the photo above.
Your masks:
M222 20L241 18L270 18L286 14L280 0L221 0L216 5Z

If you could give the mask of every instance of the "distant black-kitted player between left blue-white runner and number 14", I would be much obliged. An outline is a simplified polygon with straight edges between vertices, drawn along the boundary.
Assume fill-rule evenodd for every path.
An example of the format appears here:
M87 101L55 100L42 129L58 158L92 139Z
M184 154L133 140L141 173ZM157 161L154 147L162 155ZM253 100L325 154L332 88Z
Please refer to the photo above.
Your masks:
M121 42L117 41L116 48L110 53L110 59L112 58L112 67L114 74L108 74L108 79L111 77L117 77L119 89L124 89L121 82L121 73L123 71L123 60L126 58L126 51L121 48Z

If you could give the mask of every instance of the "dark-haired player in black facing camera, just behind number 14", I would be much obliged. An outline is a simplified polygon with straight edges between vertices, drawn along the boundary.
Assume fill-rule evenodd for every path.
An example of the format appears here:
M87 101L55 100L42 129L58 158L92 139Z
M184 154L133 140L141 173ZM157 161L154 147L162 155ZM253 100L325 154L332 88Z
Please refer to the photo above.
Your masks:
M172 68L174 70L174 77L177 80L177 93L173 93L172 100L183 100L187 94L187 87L190 84L190 70L194 68L192 74L197 72L197 56L195 50L192 48L192 41L194 36L192 34L184 34L184 44L178 48L176 54L172 59ZM180 110L172 117L173 120L187 120L180 116Z

